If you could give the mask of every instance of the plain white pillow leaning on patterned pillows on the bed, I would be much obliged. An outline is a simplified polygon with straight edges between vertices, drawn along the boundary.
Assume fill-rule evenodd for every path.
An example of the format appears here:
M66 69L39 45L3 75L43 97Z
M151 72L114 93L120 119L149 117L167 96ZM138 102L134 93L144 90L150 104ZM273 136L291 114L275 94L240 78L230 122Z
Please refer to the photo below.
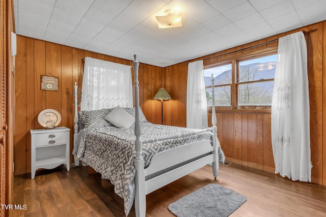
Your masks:
M130 128L134 123L134 117L120 106L108 113L105 119L117 128Z

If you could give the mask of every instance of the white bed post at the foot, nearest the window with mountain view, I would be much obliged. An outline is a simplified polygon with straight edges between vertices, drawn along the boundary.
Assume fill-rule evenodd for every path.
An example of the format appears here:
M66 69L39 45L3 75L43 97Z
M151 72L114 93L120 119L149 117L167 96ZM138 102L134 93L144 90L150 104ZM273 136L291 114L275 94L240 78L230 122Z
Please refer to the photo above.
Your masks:
M214 162L212 163L214 178L219 176L219 143L216 128L216 114L215 114L215 95L214 95L214 77L213 74L210 78L210 85L212 88L212 124L213 124L213 146L214 146Z

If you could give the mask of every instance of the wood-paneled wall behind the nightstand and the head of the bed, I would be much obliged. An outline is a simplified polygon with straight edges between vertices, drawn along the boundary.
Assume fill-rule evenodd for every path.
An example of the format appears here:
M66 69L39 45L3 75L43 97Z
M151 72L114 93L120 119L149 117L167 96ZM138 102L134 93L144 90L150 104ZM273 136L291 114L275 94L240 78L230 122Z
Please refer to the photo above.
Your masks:
M17 36L16 79L15 85L15 175L31 171L31 129L41 129L37 116L46 108L61 113L59 126L70 129L70 152L73 149L73 113L72 96L74 82L82 88L84 57L105 59L131 66L132 61L98 54L91 51L72 48L51 42L45 42L23 36ZM140 63L139 77L140 105L145 116L153 123L161 123L160 102L153 100L162 81L162 68ZM41 75L59 77L59 91L41 90ZM157 104L158 102L158 104ZM181 121L182 123L182 121ZM70 162L73 156L70 155Z

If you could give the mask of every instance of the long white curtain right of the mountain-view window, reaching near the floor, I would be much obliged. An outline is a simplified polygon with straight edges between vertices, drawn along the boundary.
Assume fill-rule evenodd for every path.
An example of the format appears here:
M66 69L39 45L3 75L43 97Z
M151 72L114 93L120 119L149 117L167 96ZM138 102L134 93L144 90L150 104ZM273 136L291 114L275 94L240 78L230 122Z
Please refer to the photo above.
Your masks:
M275 173L311 182L307 47L302 32L279 39L271 107Z

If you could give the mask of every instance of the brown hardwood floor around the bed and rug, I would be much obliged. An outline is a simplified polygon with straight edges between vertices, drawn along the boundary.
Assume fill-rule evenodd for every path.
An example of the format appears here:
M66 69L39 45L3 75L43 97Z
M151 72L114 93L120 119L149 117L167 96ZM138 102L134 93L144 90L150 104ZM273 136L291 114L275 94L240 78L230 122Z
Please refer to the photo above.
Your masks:
M146 196L147 216L174 216L170 203L209 183L247 197L230 216L326 216L326 187L236 164L221 166L217 180L205 166L152 192ZM110 181L81 166L37 171L35 179L15 176L12 198L26 209L11 210L10 216L124 216L123 200ZM128 216L135 216L133 207Z

